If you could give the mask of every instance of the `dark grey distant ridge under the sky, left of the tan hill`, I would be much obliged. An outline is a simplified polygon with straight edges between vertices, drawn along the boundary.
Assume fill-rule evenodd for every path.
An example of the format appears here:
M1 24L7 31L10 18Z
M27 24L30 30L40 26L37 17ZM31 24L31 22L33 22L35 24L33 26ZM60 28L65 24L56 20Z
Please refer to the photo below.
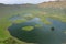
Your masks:
M35 7L35 4L32 4L32 3L23 3L23 4L3 4L3 3L0 3L0 8L9 8L10 7L10 9L11 8L22 8L22 7L24 7L24 8L26 8L26 7Z

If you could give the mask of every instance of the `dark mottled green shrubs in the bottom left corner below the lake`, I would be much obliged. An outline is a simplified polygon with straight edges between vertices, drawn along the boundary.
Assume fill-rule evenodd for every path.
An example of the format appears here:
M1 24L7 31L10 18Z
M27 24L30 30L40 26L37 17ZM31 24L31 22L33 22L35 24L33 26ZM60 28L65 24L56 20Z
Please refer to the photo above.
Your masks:
M6 38L4 41L0 41L0 44L24 44L24 42L21 42L11 36L11 37Z

